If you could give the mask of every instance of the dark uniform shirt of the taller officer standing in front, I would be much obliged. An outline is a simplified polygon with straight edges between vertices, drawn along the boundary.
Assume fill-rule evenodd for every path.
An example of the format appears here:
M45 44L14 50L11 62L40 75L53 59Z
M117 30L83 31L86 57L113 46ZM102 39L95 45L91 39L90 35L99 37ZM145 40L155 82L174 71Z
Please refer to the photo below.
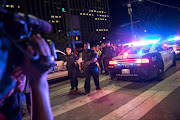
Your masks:
M97 58L97 57L98 55L95 50L88 49L87 51L84 50L82 52L82 60L84 60L84 64L86 64L88 61L92 60L93 58ZM91 64L94 64L94 63L91 63Z

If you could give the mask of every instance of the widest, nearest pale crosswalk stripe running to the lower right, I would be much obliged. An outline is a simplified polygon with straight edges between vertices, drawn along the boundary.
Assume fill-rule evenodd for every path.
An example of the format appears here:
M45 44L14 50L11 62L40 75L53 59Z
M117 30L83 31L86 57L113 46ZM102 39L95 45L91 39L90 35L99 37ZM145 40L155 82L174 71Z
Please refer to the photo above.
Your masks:
M180 71L137 96L100 120L137 120L180 86Z

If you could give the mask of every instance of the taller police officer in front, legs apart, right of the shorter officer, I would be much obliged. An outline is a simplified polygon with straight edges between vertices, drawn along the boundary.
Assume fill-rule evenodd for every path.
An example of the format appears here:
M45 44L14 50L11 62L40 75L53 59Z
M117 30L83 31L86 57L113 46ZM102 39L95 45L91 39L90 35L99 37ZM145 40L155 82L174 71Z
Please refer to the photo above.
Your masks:
M94 79L94 83L96 85L96 90L99 90L99 71L98 66L96 64L97 62L97 53L96 51L90 49L90 44L85 43L84 44L84 51L82 53L82 63L85 68L85 74L86 74L86 80L85 80L85 94L90 93L90 80L91 75Z

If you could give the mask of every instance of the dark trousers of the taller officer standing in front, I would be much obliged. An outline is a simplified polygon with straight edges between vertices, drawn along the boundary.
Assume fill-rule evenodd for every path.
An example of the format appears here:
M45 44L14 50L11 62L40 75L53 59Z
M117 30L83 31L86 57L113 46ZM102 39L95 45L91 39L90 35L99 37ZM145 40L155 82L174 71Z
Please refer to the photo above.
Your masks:
M91 76L94 79L94 83L96 87L99 87L99 70L97 65L94 67L87 67L85 68L85 74L86 74L86 80L85 80L85 91L90 92L91 86L90 86L90 81L91 81Z

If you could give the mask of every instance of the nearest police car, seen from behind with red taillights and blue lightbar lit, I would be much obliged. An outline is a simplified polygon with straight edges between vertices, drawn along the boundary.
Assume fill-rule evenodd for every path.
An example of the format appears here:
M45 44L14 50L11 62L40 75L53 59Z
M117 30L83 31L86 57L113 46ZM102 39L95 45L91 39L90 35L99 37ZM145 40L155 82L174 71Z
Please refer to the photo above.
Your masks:
M133 47L123 50L109 61L111 79L119 76L137 80L163 80L165 70L176 65L175 52L160 42L151 44L149 41L143 41L132 45Z

